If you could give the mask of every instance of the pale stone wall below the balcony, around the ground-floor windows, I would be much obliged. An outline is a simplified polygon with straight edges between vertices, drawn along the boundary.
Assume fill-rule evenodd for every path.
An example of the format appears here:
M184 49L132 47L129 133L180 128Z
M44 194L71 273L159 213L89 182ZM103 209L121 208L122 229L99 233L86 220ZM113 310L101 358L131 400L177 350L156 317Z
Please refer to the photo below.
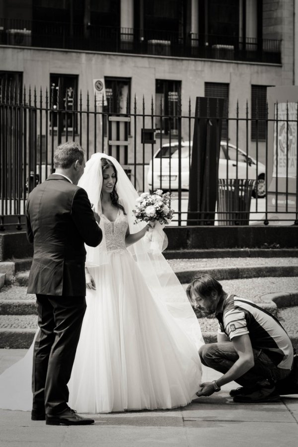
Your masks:
M165 58L158 56L122 55L115 53L92 53L64 50L30 49L17 47L0 47L1 70L23 72L23 83L28 88L36 86L45 92L49 89L50 74L78 75L78 91L81 90L83 110L86 110L86 95L93 92L93 78L119 76L131 78L131 92L136 95L137 112L142 113L143 95L147 112L150 112L151 98L155 101L155 79L180 80L182 85L182 115L188 116L189 98L192 113L196 96L205 95L205 82L226 82L229 84L229 116L236 117L239 101L239 117L246 116L246 102L249 111L251 105L251 84L281 85L284 71L280 65L224 62L216 60L197 60L182 58ZM91 99L91 104L93 100ZM249 112L250 118L250 112ZM235 143L236 122L230 123L230 142ZM239 124L239 147L246 146L246 123ZM90 134L92 122L90 122ZM151 127L150 120L146 126ZM143 127L141 124L138 126ZM100 130L98 129L98 141ZM132 124L132 134L134 132ZM192 131L191 131L192 135ZM188 122L183 120L182 136L188 139ZM255 156L255 144L250 142L250 125L248 132L250 154ZM163 143L166 143L164 140ZM138 142L139 144L139 142ZM131 145L133 150L133 145ZM146 162L149 162L148 151ZM264 161L264 150L259 144L260 161Z

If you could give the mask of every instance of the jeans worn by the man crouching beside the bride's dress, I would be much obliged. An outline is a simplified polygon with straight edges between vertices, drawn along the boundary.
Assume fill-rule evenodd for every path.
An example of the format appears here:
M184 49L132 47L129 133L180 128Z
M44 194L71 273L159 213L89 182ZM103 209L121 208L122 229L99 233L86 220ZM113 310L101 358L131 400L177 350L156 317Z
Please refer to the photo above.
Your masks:
M203 365L226 373L239 359L232 342L210 343L199 350ZM261 349L253 349L254 366L241 375L235 382L241 386L253 387L258 382L269 380L270 383L281 380L290 374L290 370L277 368L272 360Z

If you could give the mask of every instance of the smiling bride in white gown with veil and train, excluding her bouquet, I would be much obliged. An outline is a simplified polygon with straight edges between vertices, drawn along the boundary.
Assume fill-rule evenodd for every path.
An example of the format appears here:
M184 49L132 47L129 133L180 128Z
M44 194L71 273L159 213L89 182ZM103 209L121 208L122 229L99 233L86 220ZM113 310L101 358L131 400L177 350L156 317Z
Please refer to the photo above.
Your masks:
M69 405L92 414L187 405L199 389L204 341L162 241L153 246L149 225L134 225L139 196L115 158L92 155L79 186L101 216L103 240L86 247L87 310ZM0 408L31 410L32 353L33 345L0 376Z

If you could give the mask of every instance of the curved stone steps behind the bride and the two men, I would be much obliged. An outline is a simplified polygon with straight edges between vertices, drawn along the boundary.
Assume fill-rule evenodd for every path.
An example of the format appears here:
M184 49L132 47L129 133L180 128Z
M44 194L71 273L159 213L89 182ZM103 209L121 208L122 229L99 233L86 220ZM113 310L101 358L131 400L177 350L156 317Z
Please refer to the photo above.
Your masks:
M260 252L257 249L250 249L249 253L247 249L210 250L209 255L213 256L209 256L206 250L176 250L166 253L169 264L184 288L195 275L205 273L221 281L224 290L227 287L227 292L237 291L244 298L250 298L250 294L255 292L255 289L259 290L262 285L260 296L255 294L251 299L277 315L278 308L283 305L298 305L298 259L295 257L298 250L295 250L282 249L278 250L278 253L276 250ZM171 257L174 253L175 257ZM245 256L241 253L245 253ZM254 254L258 257L255 258ZM281 254L282 257L276 254ZM26 294L31 262L31 258L25 258L0 263L0 272L1 268L6 272L10 284L0 291L0 348L28 348L36 332L35 295ZM205 342L216 341L217 322L201 318L197 311L196 314ZM293 334L293 337L298 345L296 335Z

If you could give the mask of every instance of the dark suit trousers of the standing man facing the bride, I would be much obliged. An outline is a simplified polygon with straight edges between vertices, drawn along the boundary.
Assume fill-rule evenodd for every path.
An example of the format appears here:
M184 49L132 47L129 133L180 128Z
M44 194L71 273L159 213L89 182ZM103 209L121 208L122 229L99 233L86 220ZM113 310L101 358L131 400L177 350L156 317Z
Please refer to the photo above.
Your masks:
M33 351L33 409L64 411L68 382L86 310L85 297L36 295L39 332Z

